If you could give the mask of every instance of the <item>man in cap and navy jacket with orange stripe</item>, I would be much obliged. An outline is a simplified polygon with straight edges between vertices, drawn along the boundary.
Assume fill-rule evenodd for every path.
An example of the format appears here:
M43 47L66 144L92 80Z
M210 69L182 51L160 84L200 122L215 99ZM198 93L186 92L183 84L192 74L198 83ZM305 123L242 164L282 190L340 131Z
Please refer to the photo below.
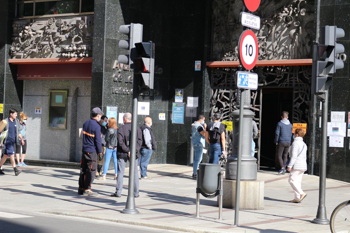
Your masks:
M83 124L83 154L80 161L80 176L78 194L84 196L97 196L91 190L95 178L98 155L102 155L101 147L101 120L103 112L100 108L91 110L91 119Z

